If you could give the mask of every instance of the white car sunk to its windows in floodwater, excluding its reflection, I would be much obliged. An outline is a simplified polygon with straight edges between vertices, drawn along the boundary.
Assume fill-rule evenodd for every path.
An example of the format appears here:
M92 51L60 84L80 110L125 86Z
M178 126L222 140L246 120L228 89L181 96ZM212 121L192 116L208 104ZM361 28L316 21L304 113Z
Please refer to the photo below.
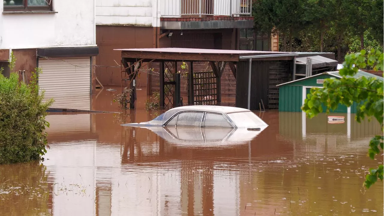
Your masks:
M153 126L194 126L247 128L261 130L268 125L255 113L244 108L231 106L194 105L172 108L157 116L152 121L128 123L122 126L153 127Z

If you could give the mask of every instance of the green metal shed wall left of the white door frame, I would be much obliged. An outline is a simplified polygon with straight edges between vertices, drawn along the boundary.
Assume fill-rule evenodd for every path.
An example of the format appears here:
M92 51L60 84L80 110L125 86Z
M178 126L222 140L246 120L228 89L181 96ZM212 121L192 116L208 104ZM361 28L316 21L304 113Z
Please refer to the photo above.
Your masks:
M279 89L279 111L301 112L303 86L284 85Z

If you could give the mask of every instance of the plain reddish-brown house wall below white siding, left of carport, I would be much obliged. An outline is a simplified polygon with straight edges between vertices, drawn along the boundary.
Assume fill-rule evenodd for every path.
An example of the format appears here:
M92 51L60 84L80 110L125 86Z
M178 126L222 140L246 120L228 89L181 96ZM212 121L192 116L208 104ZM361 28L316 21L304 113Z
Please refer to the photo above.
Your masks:
M96 76L103 85L121 85L121 52L113 49L153 48L153 28L137 26L96 25L96 44L99 55L96 56ZM147 74L140 73L137 83L147 86Z

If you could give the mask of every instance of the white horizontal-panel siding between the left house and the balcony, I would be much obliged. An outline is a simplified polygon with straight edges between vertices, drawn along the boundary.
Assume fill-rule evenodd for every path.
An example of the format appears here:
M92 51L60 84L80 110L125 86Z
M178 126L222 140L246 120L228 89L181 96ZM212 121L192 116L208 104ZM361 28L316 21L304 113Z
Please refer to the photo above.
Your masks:
M97 25L152 26L157 0L96 0Z

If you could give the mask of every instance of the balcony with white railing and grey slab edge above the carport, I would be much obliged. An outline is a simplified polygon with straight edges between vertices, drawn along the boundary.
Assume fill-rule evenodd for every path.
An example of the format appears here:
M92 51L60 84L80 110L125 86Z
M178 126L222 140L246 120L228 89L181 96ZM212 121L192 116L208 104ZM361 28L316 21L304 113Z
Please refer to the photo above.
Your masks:
M161 0L161 28L253 28L252 0Z

